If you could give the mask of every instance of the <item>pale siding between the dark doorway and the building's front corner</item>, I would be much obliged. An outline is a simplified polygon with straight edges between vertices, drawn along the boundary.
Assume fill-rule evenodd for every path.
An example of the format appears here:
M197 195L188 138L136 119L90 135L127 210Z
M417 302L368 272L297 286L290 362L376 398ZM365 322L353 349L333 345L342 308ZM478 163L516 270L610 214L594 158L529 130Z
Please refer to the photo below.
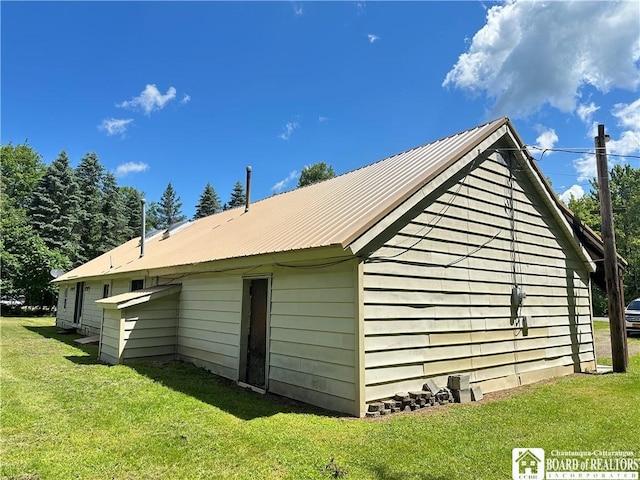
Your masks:
M355 268L348 262L273 275L270 391L355 412Z

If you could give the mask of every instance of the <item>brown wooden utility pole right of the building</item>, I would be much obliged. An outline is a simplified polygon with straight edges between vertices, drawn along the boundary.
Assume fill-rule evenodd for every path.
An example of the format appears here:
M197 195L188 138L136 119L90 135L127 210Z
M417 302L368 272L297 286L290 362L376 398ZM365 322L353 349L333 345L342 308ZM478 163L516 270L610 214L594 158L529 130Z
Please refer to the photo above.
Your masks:
M600 216L602 218L602 241L604 243L604 277L609 301L609 330L611 332L611 357L613 371L627 371L627 332L624 325L622 295L618 271L618 255L616 253L616 237L613 231L613 207L611 206L611 190L609 189L609 167L607 165L608 135L604 133L604 125L598 125L598 136L595 137L596 164L598 167L598 192L600 194Z

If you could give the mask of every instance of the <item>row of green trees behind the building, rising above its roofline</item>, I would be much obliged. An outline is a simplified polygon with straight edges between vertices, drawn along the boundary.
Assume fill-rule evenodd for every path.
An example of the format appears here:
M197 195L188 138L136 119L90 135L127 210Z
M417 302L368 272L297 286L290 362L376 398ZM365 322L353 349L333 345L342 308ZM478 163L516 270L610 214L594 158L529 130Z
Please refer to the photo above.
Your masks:
M57 295L51 272L68 271L139 236L145 195L119 186L94 152L72 168L64 151L47 166L26 142L0 149L0 291L4 298L25 297L26 305L51 307ZM333 168L320 162L303 169L298 186L333 176ZM243 206L245 199L240 181L224 204L207 183L193 218ZM146 204L147 231L185 220L170 182L158 201Z

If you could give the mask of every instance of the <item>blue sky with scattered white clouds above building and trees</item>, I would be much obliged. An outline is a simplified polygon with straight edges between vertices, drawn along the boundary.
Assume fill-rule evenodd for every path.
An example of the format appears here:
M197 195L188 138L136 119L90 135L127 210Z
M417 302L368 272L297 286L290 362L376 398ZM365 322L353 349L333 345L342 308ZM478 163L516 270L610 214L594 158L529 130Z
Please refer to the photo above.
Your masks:
M2 143L95 151L193 215L253 168L252 199L509 116L565 197L640 167L640 2L7 2ZM575 150L578 151L575 151ZM540 158L542 151L532 148Z

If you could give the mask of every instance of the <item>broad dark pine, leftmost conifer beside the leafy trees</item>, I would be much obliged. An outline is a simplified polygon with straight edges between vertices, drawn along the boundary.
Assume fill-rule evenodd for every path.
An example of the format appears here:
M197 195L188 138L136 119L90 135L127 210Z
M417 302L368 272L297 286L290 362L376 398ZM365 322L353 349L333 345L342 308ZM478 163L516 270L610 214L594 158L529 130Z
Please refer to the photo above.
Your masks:
M34 189L28 212L45 245L60 250L73 265L79 264L79 205L76 175L62 151Z

